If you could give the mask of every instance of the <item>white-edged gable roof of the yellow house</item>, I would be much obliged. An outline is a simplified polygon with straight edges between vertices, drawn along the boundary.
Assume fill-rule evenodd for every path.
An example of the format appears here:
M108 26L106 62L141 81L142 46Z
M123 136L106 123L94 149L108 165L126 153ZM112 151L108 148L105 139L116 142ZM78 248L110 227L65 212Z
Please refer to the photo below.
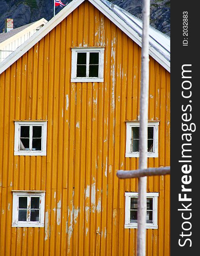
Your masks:
M25 52L33 47L55 26L74 11L84 0L73 0L64 7L56 16L46 23L24 44L18 47L0 64L0 73L5 71L11 64L17 61ZM89 0L100 12L109 18L117 27L128 35L135 43L142 47L142 21L126 12L122 8L107 0ZM170 38L158 30L149 29L149 55L170 72Z

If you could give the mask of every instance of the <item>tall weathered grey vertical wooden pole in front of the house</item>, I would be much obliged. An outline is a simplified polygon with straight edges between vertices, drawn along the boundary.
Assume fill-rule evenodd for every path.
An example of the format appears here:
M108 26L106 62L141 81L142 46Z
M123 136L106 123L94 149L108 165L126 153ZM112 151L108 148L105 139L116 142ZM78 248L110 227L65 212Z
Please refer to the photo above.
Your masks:
M147 131L149 102L149 15L150 0L143 0L143 37L141 52L140 84L140 133L139 133L139 168L147 169ZM146 184L147 177L140 177L138 183L138 230L137 256L146 255Z

